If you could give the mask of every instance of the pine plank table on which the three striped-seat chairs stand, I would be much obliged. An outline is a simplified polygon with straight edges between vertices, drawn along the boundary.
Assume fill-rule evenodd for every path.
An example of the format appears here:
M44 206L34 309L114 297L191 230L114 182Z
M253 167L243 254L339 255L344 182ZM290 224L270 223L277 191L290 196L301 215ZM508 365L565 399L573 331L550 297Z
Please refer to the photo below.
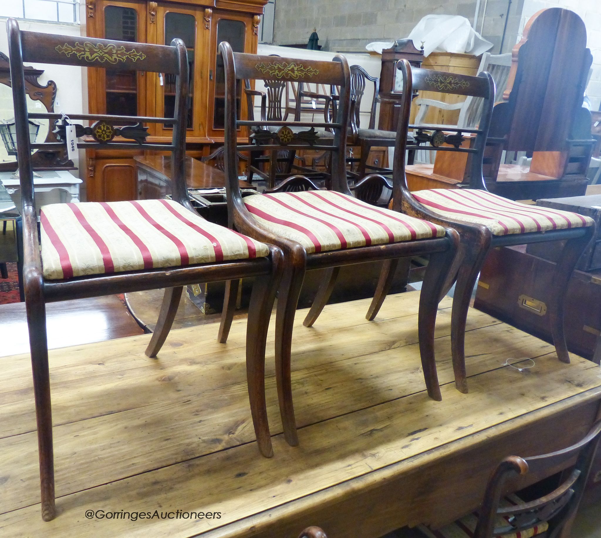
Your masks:
M376 538L450 521L477 505L499 459L568 446L594 422L599 367L575 355L560 363L548 343L477 310L466 333L470 393L456 391L448 298L436 333L443 400L430 400L418 298L391 295L374 322L364 319L369 300L327 306L313 328L297 313L298 447L281 434L270 332L272 459L255 446L243 319L226 345L218 324L174 330L156 360L144 355L150 335L50 351L58 516L47 523L29 357L0 358L0 536L296 538L320 525L331 538ZM535 366L502 366L523 357ZM87 519L87 510L121 515ZM124 515L154 510L220 517Z

